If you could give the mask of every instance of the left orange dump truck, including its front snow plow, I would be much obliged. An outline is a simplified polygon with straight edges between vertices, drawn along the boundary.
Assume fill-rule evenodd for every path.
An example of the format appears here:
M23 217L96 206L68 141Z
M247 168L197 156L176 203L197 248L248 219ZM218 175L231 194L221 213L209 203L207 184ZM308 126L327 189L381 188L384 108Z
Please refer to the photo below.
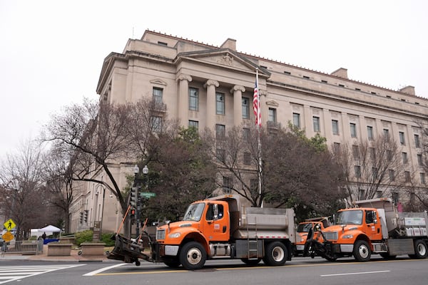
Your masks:
M294 217L293 209L245 207L242 197L222 195L193 202L182 221L157 227L148 251L116 234L108 258L136 265L143 259L189 270L202 268L207 259L282 265L291 260Z

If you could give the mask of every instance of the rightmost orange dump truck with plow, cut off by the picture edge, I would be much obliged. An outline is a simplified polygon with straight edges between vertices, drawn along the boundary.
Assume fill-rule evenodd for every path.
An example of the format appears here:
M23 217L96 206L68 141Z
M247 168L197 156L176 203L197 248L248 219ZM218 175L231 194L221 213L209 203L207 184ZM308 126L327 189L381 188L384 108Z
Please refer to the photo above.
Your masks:
M322 241L309 232L305 254L313 252L330 261L351 256L369 261L372 254L427 258L427 212L399 212L387 198L358 201L355 206L337 212L335 224L320 232Z

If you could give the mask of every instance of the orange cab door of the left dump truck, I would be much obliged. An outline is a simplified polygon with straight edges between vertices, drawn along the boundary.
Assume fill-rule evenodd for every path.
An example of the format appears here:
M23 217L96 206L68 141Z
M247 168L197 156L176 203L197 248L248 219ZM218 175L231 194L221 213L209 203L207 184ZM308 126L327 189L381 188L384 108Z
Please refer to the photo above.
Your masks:
M229 239L229 214L227 207L218 202L208 204L203 221L203 234L211 242Z

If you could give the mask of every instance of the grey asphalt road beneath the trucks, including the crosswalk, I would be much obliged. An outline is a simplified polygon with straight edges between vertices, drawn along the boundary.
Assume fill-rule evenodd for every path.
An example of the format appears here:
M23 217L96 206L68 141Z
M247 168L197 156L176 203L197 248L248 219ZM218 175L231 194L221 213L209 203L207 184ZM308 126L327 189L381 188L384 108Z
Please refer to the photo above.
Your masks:
M0 284L101 285L101 284L316 284L316 285L427 285L428 259L407 257L369 262L295 257L285 266L245 266L239 260L207 261L198 271L170 269L164 264L142 262L141 266L120 261L66 263L47 261L1 261Z

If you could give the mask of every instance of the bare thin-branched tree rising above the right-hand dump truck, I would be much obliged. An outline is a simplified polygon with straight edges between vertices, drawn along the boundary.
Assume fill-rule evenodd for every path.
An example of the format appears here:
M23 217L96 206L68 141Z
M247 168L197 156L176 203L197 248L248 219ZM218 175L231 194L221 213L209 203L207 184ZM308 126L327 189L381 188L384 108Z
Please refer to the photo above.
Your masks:
M392 138L379 135L372 141L333 145L336 162L346 180L347 199L372 199L381 193L398 192L405 186L402 152Z

